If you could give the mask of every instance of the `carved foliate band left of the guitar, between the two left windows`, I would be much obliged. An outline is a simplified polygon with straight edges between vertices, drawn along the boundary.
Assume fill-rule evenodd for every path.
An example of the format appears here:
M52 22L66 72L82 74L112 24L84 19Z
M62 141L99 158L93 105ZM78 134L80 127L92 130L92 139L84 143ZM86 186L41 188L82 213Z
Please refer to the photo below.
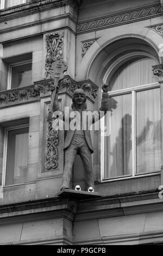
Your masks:
M38 81L32 86L0 92L0 108L39 100L40 96L49 94L52 82L52 79Z

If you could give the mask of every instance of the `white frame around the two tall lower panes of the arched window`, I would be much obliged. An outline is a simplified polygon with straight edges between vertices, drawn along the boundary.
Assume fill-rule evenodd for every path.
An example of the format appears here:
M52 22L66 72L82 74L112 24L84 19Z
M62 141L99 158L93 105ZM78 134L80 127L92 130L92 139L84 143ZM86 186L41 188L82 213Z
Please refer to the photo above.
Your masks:
M160 84L158 82L143 84L141 86L134 86L119 90L114 90L108 92L109 97L112 96L120 96L123 94L131 94L131 115L132 115L132 174L130 175L123 175L123 176L115 176L111 178L104 178L104 157L105 157L105 145L104 145L104 136L101 136L101 182L108 182L108 181L116 181L116 180L124 180L124 179L133 179L133 178L140 178L142 176L153 176L158 175L161 172L161 165L160 170L150 173L139 173L136 174L136 93L141 92L143 90L160 88ZM160 106L161 107L161 106ZM161 109L160 109L161 110ZM101 120L102 121L102 120ZM101 123L101 127L104 127L104 119ZM161 149L162 150L162 149ZM134 161L133 161L134 160Z

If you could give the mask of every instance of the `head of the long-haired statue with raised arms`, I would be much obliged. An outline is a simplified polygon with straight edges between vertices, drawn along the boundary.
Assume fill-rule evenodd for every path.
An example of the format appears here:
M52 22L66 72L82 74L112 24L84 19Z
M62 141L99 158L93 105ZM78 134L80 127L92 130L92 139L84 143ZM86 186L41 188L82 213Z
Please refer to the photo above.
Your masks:
M80 97L79 97L80 96ZM86 94L83 89L76 89L72 95L72 108L76 108L77 104L83 104L83 108L86 109Z

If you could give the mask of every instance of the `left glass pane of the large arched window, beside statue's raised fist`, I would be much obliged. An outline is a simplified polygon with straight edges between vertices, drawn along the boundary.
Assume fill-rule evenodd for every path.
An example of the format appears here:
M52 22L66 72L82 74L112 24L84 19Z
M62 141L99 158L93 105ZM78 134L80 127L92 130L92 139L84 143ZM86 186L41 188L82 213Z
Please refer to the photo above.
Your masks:
M131 94L111 97L110 135L104 137L104 178L131 174ZM115 102L117 106L115 108Z

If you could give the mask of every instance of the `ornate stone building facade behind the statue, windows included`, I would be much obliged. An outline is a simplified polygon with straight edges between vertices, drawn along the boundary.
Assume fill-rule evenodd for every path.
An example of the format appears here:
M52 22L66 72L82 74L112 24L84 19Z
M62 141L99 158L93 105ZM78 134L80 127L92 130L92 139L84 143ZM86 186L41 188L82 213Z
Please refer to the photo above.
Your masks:
M162 0L0 3L0 243L162 243ZM64 132L47 118L57 60L68 65L61 109L76 88L98 109L103 82L116 102L109 133L91 132L99 198L57 196ZM79 156L77 184L85 190Z

